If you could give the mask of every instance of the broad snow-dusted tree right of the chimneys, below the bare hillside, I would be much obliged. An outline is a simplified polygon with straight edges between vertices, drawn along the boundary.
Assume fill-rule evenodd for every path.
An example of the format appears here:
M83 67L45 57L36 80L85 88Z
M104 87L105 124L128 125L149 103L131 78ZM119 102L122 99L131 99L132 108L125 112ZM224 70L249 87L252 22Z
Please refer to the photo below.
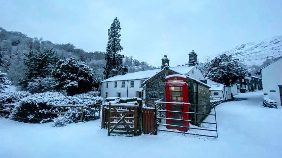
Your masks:
M203 65L205 77L230 85L237 79L247 75L246 66L239 62L239 59L232 58L232 55L222 54Z

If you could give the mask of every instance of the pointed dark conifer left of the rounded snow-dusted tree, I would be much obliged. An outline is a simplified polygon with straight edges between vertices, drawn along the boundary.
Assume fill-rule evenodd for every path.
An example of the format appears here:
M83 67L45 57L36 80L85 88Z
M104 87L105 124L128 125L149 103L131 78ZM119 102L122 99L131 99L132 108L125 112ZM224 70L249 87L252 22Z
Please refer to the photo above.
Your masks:
M56 64L58 57L56 56L53 48L50 50L41 51L30 50L26 54L25 66L27 71L25 73L26 81L35 79L36 77L47 77L50 76L50 73Z

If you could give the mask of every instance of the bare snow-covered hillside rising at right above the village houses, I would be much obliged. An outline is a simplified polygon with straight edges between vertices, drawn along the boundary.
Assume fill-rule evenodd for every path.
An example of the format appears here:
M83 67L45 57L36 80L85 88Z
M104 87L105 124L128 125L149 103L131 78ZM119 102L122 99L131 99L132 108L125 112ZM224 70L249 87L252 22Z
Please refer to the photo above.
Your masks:
M282 56L282 35L238 45L223 53L231 54L232 56L239 58L239 60L243 61L247 66L261 66L267 58L272 59ZM207 60L209 58L214 58L214 56L208 56L204 59Z

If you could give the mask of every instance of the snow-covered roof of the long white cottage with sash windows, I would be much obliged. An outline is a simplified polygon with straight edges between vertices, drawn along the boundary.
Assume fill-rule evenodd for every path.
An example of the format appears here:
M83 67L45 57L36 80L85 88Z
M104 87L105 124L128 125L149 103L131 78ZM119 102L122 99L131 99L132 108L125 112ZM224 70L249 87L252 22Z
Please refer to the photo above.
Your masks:
M192 69L195 66L185 65L185 66L170 67L170 69L177 71L181 74L187 74L190 71L192 71ZM127 73L125 75L116 75L114 77L110 77L108 79L105 79L102 82L125 81L125 80L134 80L134 79L148 79L148 78L154 76L155 74L159 73L160 71L161 71L161 69L158 68L158 69L154 69L154 70L145 70L145 71L138 71L138 72L135 72L135 73Z

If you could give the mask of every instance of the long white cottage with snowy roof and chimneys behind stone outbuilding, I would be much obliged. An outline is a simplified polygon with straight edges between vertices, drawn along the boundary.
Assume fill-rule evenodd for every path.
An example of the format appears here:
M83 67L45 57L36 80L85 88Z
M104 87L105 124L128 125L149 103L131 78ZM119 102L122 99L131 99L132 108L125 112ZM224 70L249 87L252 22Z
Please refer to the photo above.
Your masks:
M169 59L165 55L162 58L161 68L154 70L138 71L135 73L127 73L126 67L122 68L121 75L114 75L102 81L101 97L138 97L145 98L144 81L159 73L164 66L169 66ZM189 75L199 81L205 80L205 77L197 65L197 54L192 51L189 53L189 64L185 66L170 67L175 72ZM117 70L113 69L112 74L116 74Z

